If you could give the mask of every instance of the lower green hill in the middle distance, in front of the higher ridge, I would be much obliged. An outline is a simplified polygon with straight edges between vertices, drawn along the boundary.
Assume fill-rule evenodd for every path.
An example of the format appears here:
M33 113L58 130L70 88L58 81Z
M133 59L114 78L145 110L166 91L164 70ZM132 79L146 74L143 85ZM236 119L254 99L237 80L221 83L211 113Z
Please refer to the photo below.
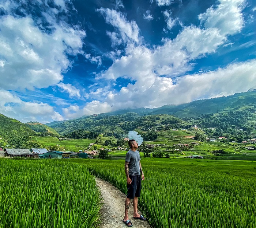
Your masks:
M157 127L163 124L173 124L174 127L185 127L190 123L171 115L140 116L137 113L120 115L94 114L89 117L71 119L57 123L47 123L60 134L67 134L78 129L85 129L99 133L126 134L138 127ZM178 124L178 125L177 125Z

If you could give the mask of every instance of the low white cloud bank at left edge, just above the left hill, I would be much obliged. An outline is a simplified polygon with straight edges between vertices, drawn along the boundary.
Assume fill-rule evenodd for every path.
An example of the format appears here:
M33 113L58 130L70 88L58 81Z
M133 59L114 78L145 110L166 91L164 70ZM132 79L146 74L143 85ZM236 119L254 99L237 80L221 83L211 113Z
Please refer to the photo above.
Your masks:
M10 91L0 89L1 114L18 119L21 122L60 121L64 118L53 107L42 102L25 102Z

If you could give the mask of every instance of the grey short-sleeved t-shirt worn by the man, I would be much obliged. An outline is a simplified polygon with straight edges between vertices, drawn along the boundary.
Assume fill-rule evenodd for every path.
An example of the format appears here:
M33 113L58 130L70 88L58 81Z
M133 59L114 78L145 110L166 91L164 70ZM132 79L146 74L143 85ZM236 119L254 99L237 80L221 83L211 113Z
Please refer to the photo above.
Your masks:
M129 175L136 176L140 175L140 153L138 150L129 150L126 154L125 161L129 162Z

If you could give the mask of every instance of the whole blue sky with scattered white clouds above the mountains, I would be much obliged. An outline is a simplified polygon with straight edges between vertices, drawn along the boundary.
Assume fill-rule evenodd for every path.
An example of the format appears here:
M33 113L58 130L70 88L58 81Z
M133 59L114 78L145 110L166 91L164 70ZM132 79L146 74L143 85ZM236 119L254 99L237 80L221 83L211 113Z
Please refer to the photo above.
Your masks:
M252 0L0 0L0 113L42 123L256 89Z

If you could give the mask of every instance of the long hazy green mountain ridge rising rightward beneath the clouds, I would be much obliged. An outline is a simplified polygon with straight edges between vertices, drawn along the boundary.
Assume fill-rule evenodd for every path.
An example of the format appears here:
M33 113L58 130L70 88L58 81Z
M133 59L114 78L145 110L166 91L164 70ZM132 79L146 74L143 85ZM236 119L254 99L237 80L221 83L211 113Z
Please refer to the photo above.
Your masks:
M218 127L223 122L227 122L229 125L246 129L256 125L255 110L256 91L252 91L227 97L198 100L182 105L165 105L155 109L127 109L94 114L68 121L46 123L46 125L52 127L59 134L67 134L78 129L122 134L137 127L158 126L164 119L169 119L169 122L167 121L165 124L180 123L183 127L192 123L196 123L200 127ZM211 118L207 115L210 115Z

